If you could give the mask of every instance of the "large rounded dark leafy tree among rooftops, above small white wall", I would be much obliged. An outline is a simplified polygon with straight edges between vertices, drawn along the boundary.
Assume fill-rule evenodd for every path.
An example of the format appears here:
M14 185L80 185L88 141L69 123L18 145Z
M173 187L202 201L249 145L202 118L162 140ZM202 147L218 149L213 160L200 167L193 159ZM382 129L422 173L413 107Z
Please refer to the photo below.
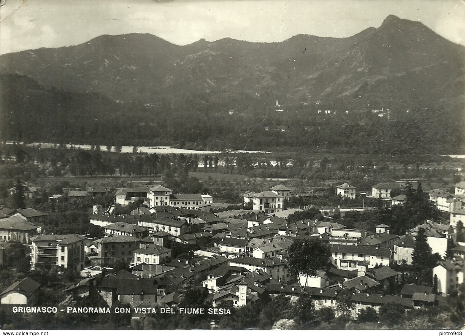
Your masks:
M287 259L292 276L316 276L326 268L331 255L329 247L320 240L299 240L288 249Z

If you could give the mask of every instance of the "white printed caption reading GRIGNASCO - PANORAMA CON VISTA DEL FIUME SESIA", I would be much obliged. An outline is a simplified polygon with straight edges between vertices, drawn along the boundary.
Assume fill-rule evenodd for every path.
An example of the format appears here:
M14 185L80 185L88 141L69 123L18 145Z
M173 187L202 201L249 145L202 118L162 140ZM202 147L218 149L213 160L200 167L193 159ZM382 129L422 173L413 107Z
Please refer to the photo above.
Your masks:
M225 308L170 308L170 307L28 307L13 306L13 313L49 313L64 312L67 314L181 314L181 315L231 315L231 309Z

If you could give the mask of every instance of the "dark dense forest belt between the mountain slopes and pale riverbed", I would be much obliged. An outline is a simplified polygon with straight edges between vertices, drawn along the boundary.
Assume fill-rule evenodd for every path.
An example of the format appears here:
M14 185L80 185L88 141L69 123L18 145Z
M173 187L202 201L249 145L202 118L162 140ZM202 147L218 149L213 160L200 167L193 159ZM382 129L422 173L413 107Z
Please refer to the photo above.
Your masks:
M465 148L465 116L439 106L409 113L393 110L388 118L387 113L372 113L370 106L353 110L350 100L327 106L295 103L277 111L270 104L272 92L234 98L161 96L156 105L145 106L46 88L16 74L0 75L0 86L2 141L392 155L454 154ZM232 101L242 101L240 113L229 114ZM332 114L318 114L325 108Z

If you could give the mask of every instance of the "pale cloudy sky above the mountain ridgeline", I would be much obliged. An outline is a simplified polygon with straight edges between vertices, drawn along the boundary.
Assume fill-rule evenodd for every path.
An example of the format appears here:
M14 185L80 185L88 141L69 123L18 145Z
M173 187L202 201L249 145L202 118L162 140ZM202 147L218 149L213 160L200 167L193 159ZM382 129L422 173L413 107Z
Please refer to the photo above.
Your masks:
M465 0L5 0L0 54L149 33L185 45L230 37L277 42L296 34L348 37L393 14L465 45Z

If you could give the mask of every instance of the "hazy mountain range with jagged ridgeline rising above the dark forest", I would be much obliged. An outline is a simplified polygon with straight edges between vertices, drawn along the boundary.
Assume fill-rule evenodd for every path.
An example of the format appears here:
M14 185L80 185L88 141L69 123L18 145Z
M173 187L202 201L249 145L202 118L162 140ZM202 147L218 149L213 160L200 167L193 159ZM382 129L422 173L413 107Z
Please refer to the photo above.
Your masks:
M379 28L348 38L226 38L177 46L151 34L102 35L78 46L1 55L0 78L3 86L14 74L43 91L101 95L140 108L193 97L218 101L206 107L215 111L187 106L186 115L228 109L261 114L275 100L289 109L320 101L339 110L384 107L399 115L416 111L428 122L438 117L457 123L464 112L464 55L465 47L422 23L390 15ZM2 103L3 115L20 104L7 95L0 97L9 101ZM304 124L311 112L302 111Z

